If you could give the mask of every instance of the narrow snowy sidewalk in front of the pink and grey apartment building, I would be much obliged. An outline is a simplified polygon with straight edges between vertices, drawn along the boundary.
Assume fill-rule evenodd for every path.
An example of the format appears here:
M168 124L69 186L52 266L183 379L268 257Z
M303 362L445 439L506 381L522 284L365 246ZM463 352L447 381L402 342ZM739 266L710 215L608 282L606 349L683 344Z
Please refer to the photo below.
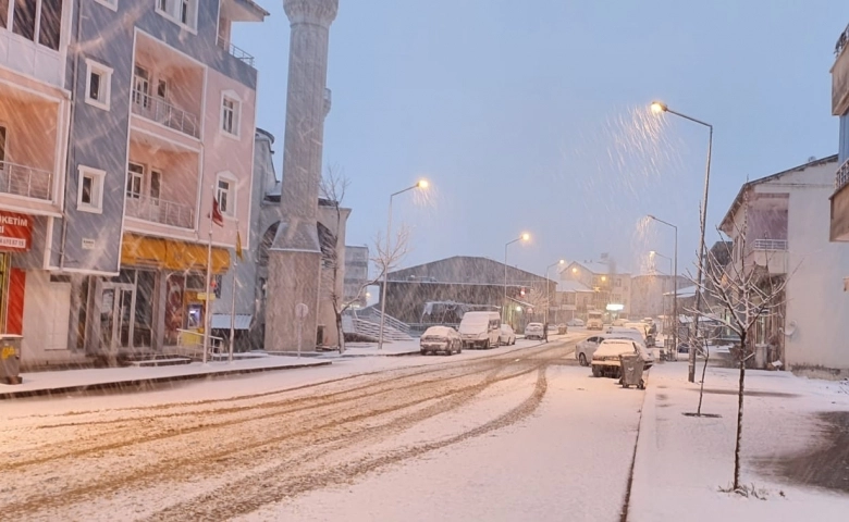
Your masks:
M213 378L224 375L323 366L332 361L316 358L262 357L256 359L200 362L173 366L126 366L86 370L61 370L21 374L23 384L0 384L0 400L36 397L94 389L118 389L190 378Z

